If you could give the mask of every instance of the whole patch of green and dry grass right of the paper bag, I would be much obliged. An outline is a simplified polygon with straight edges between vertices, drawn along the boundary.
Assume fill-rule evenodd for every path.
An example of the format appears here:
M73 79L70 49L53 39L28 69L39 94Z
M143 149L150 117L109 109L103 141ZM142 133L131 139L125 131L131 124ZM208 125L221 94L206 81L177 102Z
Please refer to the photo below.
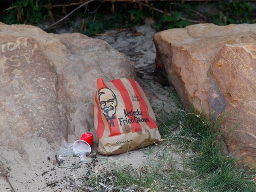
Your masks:
M142 149L149 153L148 162L139 172L120 162L106 162L107 166L86 177L84 185L99 192L110 191L108 188L138 192L254 192L256 183L249 175L249 167L239 168L235 158L220 152L219 124L224 119L217 123L203 113L186 113L178 98L174 99L177 108L166 112L164 108L170 107L165 105L163 114L157 116L161 116L157 123L163 138L160 150L156 153L153 145ZM175 154L182 157L179 166L173 158Z

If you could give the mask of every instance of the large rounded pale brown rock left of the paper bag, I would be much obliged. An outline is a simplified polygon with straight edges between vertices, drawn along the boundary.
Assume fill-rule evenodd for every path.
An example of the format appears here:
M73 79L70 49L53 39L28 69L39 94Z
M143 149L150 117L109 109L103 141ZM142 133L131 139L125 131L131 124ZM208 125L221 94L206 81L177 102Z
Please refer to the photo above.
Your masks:
M132 64L105 41L0 23L0 183L10 188L7 171L13 190L37 191L62 140L92 132L97 145L96 80L123 77L135 78Z

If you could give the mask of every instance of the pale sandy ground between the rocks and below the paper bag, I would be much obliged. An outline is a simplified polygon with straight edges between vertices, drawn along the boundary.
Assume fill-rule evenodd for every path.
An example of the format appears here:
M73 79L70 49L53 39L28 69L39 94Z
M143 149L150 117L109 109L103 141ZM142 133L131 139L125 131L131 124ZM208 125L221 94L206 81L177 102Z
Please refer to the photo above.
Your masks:
M139 32L141 32L141 35L135 36ZM170 106L175 107L172 102L172 95L153 75L155 70L155 46L152 37L155 34L155 30L151 28L150 24L124 32L107 31L106 34L109 35L97 38L107 41L110 46L123 52L131 59L139 76L138 82L148 95L155 113L160 114L164 106L168 106L169 110L171 109ZM78 157L65 157L62 162L58 162L55 155L59 146L47 144L43 138L37 138L36 134L31 136L31 145L27 146L31 148L31 153L33 154L28 156L30 158L21 157L18 152L15 157L9 157L8 151L0 148L1 157L5 157L6 160L15 158L16 162L15 164L7 165L7 179L13 189L8 182L0 178L1 192L77 191L80 186L84 186L84 181L82 180L84 175L97 171L99 167L110 166L115 162L120 165L131 166L135 171L139 172L148 160L155 158L163 148L161 144L150 145L144 149L137 149L110 157L92 153L86 158L85 162L80 162ZM44 147L41 147L42 145ZM47 151L42 151L42 148L47 149ZM34 162L33 157L35 156L41 161ZM172 153L172 158L176 162L175 166L182 170L182 158L176 153ZM24 172L17 173L15 170L26 164L22 159L28 161L31 166L23 167L22 170Z

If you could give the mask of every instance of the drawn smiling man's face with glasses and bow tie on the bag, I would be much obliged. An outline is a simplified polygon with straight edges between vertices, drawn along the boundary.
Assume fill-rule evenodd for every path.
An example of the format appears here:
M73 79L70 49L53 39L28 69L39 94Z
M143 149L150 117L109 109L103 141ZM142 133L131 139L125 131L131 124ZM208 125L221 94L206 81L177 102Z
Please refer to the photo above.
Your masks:
M117 106L117 99L116 95L111 89L102 88L98 91L98 99L99 104L101 105L101 110L103 114L107 117L107 120L110 120L110 127L114 127L114 121L116 117L116 106Z

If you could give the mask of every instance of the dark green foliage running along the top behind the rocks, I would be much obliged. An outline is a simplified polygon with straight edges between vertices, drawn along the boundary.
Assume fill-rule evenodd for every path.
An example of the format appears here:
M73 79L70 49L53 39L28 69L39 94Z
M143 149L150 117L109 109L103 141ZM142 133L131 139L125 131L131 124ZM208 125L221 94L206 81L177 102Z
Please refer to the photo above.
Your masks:
M0 13L0 21L7 24L39 24L43 21L54 21L64 17L67 13L75 9L78 5L68 7L51 7L48 5L70 4L77 1L71 0L16 0L11 5L10 9ZM75 14L69 17L72 21L76 15L86 18L86 28L78 29L77 32L82 32L92 36L97 33L103 33L109 28L127 28L134 25L143 24L145 18L151 18L155 23L153 26L157 31L168 28L183 28L192 23L187 20L182 20L182 17L198 20L199 22L213 22L217 25L240 24L240 23L255 23L256 8L252 2L233 2L233 1L218 1L215 6L218 13L215 16L202 18L206 13L198 13L196 6L198 3L170 1L155 1L149 2L149 7L141 6L136 2L115 2L114 4L105 2L104 6L99 7L99 2L92 2L88 6L91 12L84 12L84 9L78 9ZM114 6L113 6L114 5ZM166 14L159 13L153 10L155 7L164 11ZM168 15L168 14L170 15ZM201 16L200 16L201 15ZM82 25L82 24L81 24ZM83 29L83 30L82 30Z

